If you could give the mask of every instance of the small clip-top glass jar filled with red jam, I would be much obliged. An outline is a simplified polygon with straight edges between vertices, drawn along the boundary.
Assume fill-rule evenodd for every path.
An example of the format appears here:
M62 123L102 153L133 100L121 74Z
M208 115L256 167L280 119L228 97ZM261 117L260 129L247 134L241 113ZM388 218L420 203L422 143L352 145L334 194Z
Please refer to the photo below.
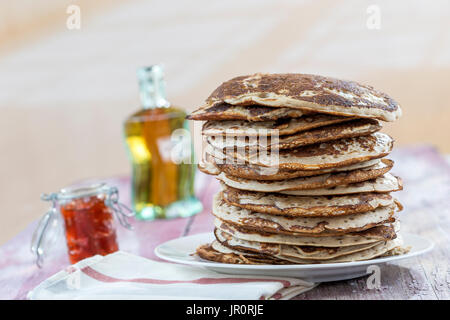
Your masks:
M127 218L133 212L119 203L117 188L106 184L64 188L43 194L41 199L51 201L52 207L33 235L31 250L38 266L42 266L48 248L55 242L61 220L71 263L119 250L114 215L124 227L131 228Z

